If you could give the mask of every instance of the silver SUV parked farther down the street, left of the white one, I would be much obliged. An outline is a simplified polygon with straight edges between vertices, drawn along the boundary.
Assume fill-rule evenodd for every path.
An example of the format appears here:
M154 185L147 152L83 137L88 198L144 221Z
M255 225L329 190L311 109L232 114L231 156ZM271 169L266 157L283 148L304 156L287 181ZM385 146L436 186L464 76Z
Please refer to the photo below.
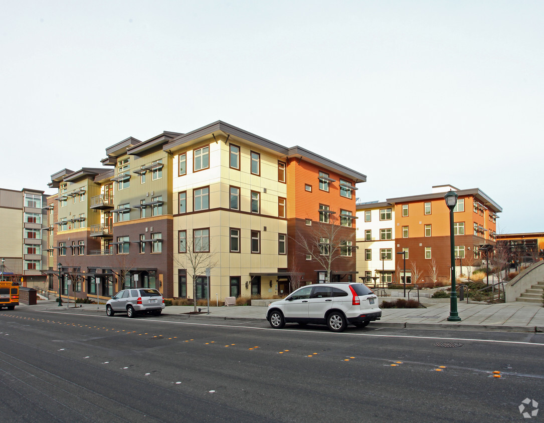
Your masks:
M151 313L158 316L164 309L164 298L156 289L132 288L123 289L108 300L106 314L126 313L129 318L136 317L137 313Z

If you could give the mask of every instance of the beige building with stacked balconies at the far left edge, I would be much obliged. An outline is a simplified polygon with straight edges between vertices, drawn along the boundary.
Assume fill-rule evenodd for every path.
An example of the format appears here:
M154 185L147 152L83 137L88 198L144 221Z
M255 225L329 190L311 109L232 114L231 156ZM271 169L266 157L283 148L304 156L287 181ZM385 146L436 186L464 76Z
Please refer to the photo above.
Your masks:
M28 287L45 284L46 203L44 191L0 189L0 280Z

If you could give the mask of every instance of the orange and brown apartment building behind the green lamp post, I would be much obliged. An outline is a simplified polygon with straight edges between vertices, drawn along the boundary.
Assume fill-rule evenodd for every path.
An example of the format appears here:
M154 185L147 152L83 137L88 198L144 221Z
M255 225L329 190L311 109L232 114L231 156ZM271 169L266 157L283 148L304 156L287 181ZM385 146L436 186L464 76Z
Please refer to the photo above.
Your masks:
M480 266L480 248L496 244L496 220L502 208L478 188L460 190L451 185L437 185L432 187L430 194L387 198L380 210L390 207L394 216L391 222L394 250L388 266L390 271L394 270L391 276L393 281L401 282L403 257L406 259L406 283L416 283L416 276L420 284L432 282L436 277L450 276L449 209L444 201L444 195L450 190L458 194L453 213L456 273L459 275L464 271L466 274L467 268L471 270ZM361 213L364 212L365 207L370 206L358 205L357 212L360 213L360 208ZM372 230L372 225L372 222L360 221L358 244L367 242L364 241L364 234ZM388 229L382 226L378 230ZM371 249L371 253L378 252L376 247ZM372 271L368 264L360 259L358 271Z

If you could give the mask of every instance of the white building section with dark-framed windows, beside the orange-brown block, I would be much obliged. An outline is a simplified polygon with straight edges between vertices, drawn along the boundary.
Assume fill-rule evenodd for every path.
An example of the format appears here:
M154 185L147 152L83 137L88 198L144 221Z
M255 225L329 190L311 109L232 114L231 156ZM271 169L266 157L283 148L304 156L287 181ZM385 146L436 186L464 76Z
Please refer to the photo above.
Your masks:
M387 286L395 273L395 209L388 202L357 203L357 272L365 283Z

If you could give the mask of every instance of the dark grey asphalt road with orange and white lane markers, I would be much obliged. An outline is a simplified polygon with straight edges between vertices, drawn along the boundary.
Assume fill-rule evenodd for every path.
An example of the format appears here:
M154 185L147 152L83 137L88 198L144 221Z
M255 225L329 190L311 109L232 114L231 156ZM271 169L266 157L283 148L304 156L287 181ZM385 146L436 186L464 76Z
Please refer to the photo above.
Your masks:
M518 408L544 407L543 352L534 333L2 310L1 420L544 421Z

